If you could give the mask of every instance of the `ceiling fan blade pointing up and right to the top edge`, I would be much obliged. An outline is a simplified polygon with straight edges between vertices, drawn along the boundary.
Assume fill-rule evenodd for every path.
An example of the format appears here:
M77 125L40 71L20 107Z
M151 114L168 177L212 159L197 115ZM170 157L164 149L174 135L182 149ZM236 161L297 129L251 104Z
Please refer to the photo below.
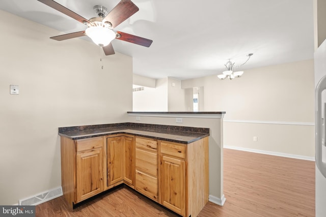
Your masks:
M137 11L139 11L139 8L130 0L121 0L121 2L119 2L119 4L112 9L104 19L111 22L112 28L115 28Z

